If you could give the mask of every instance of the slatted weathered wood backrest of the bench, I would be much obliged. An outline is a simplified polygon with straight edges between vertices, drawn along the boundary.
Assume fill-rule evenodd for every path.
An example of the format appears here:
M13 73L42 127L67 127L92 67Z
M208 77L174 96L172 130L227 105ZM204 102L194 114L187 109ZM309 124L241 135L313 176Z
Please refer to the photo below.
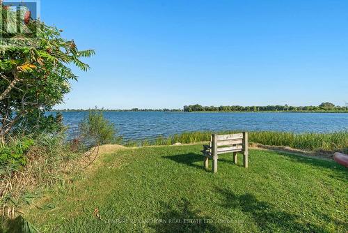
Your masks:
M248 150L247 132L230 135L213 134L210 139L210 146L212 146L212 152L214 152L214 154Z

